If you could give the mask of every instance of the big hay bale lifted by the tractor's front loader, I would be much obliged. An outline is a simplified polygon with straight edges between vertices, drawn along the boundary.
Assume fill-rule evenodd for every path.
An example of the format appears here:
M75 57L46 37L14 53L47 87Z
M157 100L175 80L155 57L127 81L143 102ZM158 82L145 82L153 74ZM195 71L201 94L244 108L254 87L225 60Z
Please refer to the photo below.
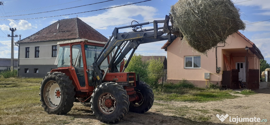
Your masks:
M179 0L170 12L184 40L204 54L224 43L229 35L245 29L239 9L231 0Z

